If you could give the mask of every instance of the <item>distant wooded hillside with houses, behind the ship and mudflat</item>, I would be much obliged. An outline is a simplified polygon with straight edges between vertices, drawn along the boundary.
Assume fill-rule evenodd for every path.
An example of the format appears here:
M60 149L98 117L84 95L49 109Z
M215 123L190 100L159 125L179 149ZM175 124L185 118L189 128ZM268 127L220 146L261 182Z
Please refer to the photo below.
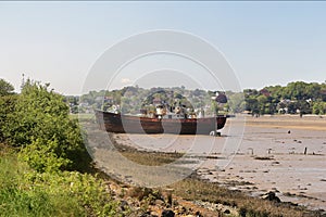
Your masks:
M224 91L221 91L224 92ZM251 114L326 114L326 84L289 82L287 86L268 86L261 90L244 89L243 92L226 91L228 102L218 105L212 101L216 91L187 90L184 87L151 88L125 87L121 90L90 91L82 95L79 112L89 108L110 110L112 105L118 105L123 113L139 113L143 104L149 105L155 98L174 103L178 101L186 104L192 111L199 113L204 110L205 114L220 112ZM76 110L76 98L70 97L72 110Z

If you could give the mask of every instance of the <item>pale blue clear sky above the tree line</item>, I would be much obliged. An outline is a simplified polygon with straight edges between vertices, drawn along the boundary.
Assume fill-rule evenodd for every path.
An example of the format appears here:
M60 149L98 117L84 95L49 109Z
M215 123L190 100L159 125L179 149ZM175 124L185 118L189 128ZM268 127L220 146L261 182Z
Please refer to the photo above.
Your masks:
M24 74L50 82L60 93L80 94L88 90L85 84L98 60L114 44L146 31L170 29L216 48L241 89L296 80L324 82L325 23L326 2L319 1L0 2L0 78L16 91ZM203 76L208 72L190 62L171 55L139 59L133 67L122 66L114 85L106 87L150 86L154 78L164 79L155 76L158 72L167 72L172 86L191 86L195 80L200 87L218 89L228 82L222 76L220 86L210 85L210 77Z

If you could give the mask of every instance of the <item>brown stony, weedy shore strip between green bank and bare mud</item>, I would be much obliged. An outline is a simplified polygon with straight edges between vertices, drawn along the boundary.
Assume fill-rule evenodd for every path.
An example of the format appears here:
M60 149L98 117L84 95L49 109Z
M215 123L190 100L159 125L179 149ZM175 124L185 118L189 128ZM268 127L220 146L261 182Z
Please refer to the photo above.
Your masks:
M139 152L127 146L120 146L120 152L137 164L145 164L154 167L168 162L174 162L178 154L159 152ZM108 150L98 150L98 165L100 169L110 177L115 177L122 182L111 180L110 188L114 190L116 200L126 201L133 209L130 216L136 213L146 216L164 216L163 213L171 210L175 216L317 216L318 212L311 212L304 207L291 203L278 203L273 200L252 197L239 190L231 190L221 184L216 184L209 179L203 179L199 171L195 171L189 177L173 182L168 186L146 188L135 187L131 176L117 176L112 174L105 165L112 163L108 156ZM102 158L102 161L101 161ZM115 159L113 159L115 161ZM146 177L146 175L145 175ZM159 177L163 178L163 177ZM125 193L123 193L125 192ZM154 193L156 192L156 193ZM158 192L160 194L158 195ZM137 203L135 203L135 196ZM134 201L134 202L133 202Z

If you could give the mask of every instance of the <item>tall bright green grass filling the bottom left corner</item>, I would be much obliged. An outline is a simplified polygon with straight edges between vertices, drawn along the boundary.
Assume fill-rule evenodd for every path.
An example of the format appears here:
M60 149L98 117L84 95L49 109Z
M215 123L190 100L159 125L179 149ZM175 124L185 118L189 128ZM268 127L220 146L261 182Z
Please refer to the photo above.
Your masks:
M35 186L26 179L32 173L12 155L0 158L0 216L86 216L78 201L67 192L51 192L51 187Z

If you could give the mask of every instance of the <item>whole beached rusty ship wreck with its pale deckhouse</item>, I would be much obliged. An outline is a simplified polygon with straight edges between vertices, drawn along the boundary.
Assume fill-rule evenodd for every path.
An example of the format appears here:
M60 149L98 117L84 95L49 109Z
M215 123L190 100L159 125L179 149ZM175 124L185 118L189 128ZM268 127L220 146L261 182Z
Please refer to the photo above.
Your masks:
M166 104L158 104L154 113L147 111L141 111L141 115L134 116L97 110L96 118L100 129L109 132L210 135L212 131L216 133L216 130L222 129L228 117L227 115L197 117L193 114L187 114L183 106Z

